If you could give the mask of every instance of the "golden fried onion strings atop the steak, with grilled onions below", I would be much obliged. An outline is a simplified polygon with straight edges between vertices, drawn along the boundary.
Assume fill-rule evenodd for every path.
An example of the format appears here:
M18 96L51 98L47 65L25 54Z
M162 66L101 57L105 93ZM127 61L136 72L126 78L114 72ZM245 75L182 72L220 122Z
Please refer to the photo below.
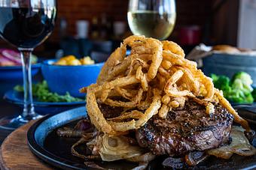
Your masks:
M130 55L126 55L127 48L131 49ZM236 123L251 131L248 122L238 115L222 92L214 88L212 79L197 69L196 62L185 59L183 49L172 41L127 37L105 62L96 84L82 88L81 92L87 93L87 113L97 132L90 133L90 137L82 135L72 148L73 154L84 159L88 157L74 149L81 143L87 143L92 154L101 160L125 159L139 162L142 169L145 168L155 158L154 154L130 145L126 135L143 127L154 115L166 118L168 112L182 108L187 100L205 106L206 114L213 114L215 105L220 104L233 115ZM123 108L123 112L117 117L105 118L101 104ZM247 155L255 154L251 147L246 148L251 151ZM236 152L227 148L224 151L245 153L244 150L238 152L237 148ZM220 155L220 151L210 154L215 153Z

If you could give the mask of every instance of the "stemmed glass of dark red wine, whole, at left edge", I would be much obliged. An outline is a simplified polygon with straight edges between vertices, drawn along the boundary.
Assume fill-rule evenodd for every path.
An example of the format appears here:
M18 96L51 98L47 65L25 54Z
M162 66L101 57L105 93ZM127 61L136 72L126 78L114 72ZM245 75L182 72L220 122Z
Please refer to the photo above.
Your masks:
M19 49L23 64L24 109L17 118L2 118L0 126L15 129L40 118L32 100L31 53L53 31L56 0L0 0L0 35Z

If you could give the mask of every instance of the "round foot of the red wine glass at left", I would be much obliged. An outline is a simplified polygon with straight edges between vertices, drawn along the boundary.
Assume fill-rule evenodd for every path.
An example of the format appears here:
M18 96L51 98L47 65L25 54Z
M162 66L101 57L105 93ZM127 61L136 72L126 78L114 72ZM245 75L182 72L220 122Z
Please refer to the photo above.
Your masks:
M32 119L38 119L42 118L42 115L36 115ZM15 130L18 127L23 126L24 124L28 123L29 120L24 119L21 115L18 117L4 117L0 119L0 128L5 129L5 130Z

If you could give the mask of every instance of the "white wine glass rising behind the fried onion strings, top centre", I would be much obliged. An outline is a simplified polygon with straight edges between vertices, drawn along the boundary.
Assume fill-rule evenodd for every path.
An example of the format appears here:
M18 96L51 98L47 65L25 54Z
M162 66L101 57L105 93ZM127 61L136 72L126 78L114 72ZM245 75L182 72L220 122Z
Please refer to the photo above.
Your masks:
M165 40L175 25L175 0L130 0L127 18L133 34Z

